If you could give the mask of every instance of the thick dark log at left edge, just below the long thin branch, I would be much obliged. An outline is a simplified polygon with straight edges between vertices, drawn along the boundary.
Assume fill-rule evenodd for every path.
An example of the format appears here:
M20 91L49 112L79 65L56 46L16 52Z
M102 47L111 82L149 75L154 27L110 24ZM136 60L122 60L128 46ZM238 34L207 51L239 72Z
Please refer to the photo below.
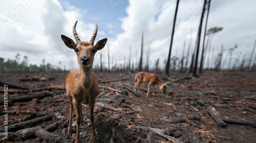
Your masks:
M8 92L9 92L9 90L8 90ZM48 97L48 96L52 96L52 92L44 91L44 92L38 92L38 93L34 93L34 94L26 94L26 95L23 95L23 96L12 97L12 98L9 99L9 101L11 103L27 102L27 101L30 101L34 98L42 99L42 98L45 98L45 97ZM0 100L0 105L3 105L3 104L4 104L4 100Z

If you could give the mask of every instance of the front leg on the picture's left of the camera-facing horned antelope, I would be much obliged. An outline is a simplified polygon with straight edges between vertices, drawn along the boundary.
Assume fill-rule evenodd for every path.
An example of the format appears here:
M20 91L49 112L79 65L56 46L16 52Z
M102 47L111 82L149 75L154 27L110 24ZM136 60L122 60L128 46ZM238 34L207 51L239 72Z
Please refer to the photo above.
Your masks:
M74 103L75 110L76 110L76 139L75 143L80 143L80 125L82 122L82 115L81 115L81 103L79 101L76 101Z

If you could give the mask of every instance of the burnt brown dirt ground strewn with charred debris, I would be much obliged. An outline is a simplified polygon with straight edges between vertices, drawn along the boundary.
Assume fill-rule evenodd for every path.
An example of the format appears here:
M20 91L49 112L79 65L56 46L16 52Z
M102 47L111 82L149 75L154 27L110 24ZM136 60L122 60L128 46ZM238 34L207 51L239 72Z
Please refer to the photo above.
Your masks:
M67 72L49 73L53 80L19 81L20 78L38 76L39 73L1 73L0 80L16 85L25 85L29 89L42 88L50 85L65 86ZM134 73L96 73L100 93L97 103L114 107L117 111L95 106L95 127L99 142L168 142L168 136L180 142L256 142L256 128L248 125L227 124L220 127L209 115L208 106L220 113L222 120L237 119L256 123L256 72L239 71L206 71L198 78L187 78L189 74L172 73L170 78L159 78L167 83L166 94L159 92L155 85L155 97L146 92L136 96L118 85L134 88ZM116 89L122 93L112 91ZM147 83L141 88L147 90ZM0 87L3 89L3 87ZM11 90L11 88L9 88ZM65 90L52 90L52 96L33 99L27 102L14 102L8 105L8 125L31 120L42 115L54 114L50 121L41 122L29 127L38 126L42 129L57 125L49 132L59 138L59 142L74 142L76 134L75 113L72 118L72 138L66 139L69 100ZM38 93L38 92L36 92ZM8 100L25 94L9 94ZM33 95L33 92L26 95ZM1 99L4 94L1 93ZM124 104L123 104L124 103ZM130 108L125 105L130 105ZM4 126L4 106L0 106L0 127ZM88 107L82 106L83 121L81 125L82 142L92 142L91 123ZM163 137L154 129L161 130ZM1 131L2 132L2 131ZM13 137L3 142L51 142L48 138L34 135L28 138ZM189 141L190 140L190 141ZM178 141L177 141L178 142Z

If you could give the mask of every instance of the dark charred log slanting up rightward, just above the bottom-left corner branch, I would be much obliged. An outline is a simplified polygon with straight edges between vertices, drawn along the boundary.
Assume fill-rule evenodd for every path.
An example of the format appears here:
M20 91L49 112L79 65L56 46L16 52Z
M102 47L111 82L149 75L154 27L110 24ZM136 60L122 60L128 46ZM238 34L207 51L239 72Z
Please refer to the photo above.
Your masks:
M36 126L36 124L44 122L44 121L52 120L52 118L53 118L53 114L50 114L50 115L46 115L46 116L39 117L39 118L36 118L36 119L28 120L28 121L25 121L25 122L11 124L11 125L8 125L8 132L13 132L13 131L15 132L15 131L24 129L24 128L29 127L29 126ZM4 131L4 129L5 129L5 126L0 127L1 132Z

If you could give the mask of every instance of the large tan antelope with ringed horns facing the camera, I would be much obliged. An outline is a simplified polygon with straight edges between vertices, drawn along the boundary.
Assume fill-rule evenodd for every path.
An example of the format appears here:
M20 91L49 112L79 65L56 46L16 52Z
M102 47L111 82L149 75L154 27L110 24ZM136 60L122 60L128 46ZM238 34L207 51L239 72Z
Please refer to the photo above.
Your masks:
M76 39L76 43L65 35L61 35L61 39L65 45L73 49L77 55L77 62L80 65L80 69L71 70L66 78L66 91L70 101L69 105L69 126L67 138L71 138L72 133L72 111L75 108L76 112L76 138L75 142L80 141L80 124L82 122L82 110L81 103L89 103L89 118L92 125L92 140L94 143L98 143L97 134L94 127L94 115L93 108L96 98L99 94L99 87L97 78L93 73L93 61L94 55L98 50L101 50L108 40L107 38L99 40L94 45L94 40L97 35L98 26L95 25L94 34L90 42L80 41L78 34L76 33L76 24L73 26L73 34Z

